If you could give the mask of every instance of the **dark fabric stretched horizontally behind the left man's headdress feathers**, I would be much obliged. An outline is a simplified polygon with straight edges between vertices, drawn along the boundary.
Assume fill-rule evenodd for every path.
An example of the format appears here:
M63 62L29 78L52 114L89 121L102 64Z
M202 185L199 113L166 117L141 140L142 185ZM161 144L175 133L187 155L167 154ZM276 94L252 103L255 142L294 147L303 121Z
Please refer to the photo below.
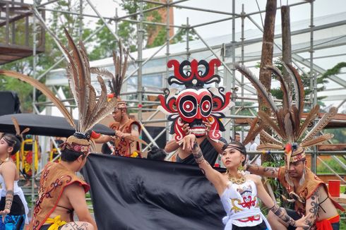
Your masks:
M18 120L20 130L30 128L27 134L31 135L47 135L55 137L68 137L73 135L74 128L59 116L46 116L38 114L8 114L0 116L0 133L16 133L11 117ZM77 123L77 120L75 120ZM114 135L114 131L107 126L97 124L93 127L93 131L106 135Z

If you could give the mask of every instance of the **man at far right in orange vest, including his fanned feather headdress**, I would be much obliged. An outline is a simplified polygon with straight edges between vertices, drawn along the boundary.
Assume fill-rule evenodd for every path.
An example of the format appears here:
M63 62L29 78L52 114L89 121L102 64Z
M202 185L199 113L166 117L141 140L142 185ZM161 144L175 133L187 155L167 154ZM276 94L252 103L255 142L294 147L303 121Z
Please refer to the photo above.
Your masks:
M273 138L265 131L261 131L263 143L258 145L257 150L285 150L285 167L268 168L249 165L246 167L246 170L253 174L279 178L282 186L290 194L290 198L285 199L289 202L294 202L294 211L287 210L287 213L292 218L298 219L303 215L309 216L305 222L312 229L339 229L340 217L336 208L340 210L343 210L343 208L330 198L326 183L321 181L306 167L304 151L304 147L317 145L333 138L333 135L330 133L317 138L315 136L335 116L337 109L335 107L330 108L329 112L324 114L316 125L311 128L311 131L304 135L309 124L313 123L318 116L319 107L318 105L314 106L306 116L305 121L301 122L304 109L304 85L302 79L293 66L286 63L282 63L282 66L287 71L289 78L284 78L278 68L266 66L267 69L273 71L280 81L283 94L282 108L280 109L249 69L238 64L235 66L246 78L249 78L258 90L258 93L264 98L264 102L273 111L272 114L258 111L258 116L275 131L278 139ZM290 85L293 85L294 99L292 99ZM292 103L293 101L295 101L294 104ZM282 222L281 219L276 218L273 212L269 212L268 220L275 229L292 229L292 226L288 226L287 222Z

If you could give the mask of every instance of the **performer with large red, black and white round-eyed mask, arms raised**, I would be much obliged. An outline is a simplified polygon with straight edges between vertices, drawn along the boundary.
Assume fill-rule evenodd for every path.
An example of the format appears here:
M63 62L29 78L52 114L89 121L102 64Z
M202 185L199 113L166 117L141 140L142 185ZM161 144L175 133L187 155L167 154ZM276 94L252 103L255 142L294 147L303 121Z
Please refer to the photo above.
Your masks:
M174 140L167 143L165 151L178 149L177 162L196 164L191 149L183 150L177 144L185 135L193 133L205 159L214 165L218 153L227 144L220 135L220 131L225 131L220 119L225 117L225 111L233 104L230 101L231 92L225 92L223 87L204 88L205 84L220 83L220 76L215 74L215 66L220 66L220 60L212 59L209 63L205 60L181 63L170 60L167 66L174 67L174 75L168 78L169 85L185 85L186 89L180 92L166 89L165 95L159 95L159 109L172 121L170 133L174 134ZM189 71L185 71L186 67Z

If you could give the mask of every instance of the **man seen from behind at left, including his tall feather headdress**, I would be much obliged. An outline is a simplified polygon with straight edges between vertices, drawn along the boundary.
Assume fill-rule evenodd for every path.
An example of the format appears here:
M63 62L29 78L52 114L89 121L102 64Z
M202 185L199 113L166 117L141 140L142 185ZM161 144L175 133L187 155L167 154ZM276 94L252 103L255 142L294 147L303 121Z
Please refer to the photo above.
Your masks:
M72 54L61 44L70 61L68 65L69 83L78 107L78 122L75 123L64 104L54 96L48 87L28 75L14 71L0 70L0 74L18 78L32 84L48 97L64 115L76 132L67 138L61 147L64 154L61 163L49 163L44 168L40 179L38 198L35 202L32 222L28 229L97 229L95 221L90 217L84 193L88 185L75 175L88 157L90 137L95 133L90 128L105 118L117 105L115 98L107 100L107 89L102 78L97 76L102 91L99 97L90 82L90 66L86 50L82 42L79 47L73 42L65 30ZM73 210L76 210L79 222L73 222Z

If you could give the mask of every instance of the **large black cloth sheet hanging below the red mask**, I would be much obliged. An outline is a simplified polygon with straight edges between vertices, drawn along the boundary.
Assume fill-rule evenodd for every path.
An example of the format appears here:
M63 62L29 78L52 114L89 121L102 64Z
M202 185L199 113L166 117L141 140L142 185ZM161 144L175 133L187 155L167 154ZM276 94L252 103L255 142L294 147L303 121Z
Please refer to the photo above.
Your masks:
M224 229L226 215L213 185L189 164L90 154L98 229Z

